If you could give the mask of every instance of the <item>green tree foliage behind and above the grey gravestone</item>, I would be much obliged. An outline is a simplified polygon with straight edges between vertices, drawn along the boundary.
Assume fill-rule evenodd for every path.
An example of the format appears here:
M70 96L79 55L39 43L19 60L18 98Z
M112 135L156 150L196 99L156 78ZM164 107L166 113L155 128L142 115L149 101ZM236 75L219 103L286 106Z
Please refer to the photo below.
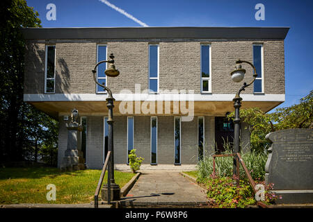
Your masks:
M234 112L228 117L234 118ZM265 139L268 133L291 128L312 128L313 90L300 99L300 103L278 108L272 113L265 113L259 108L241 109L240 118L249 125L251 148L263 151L268 144Z

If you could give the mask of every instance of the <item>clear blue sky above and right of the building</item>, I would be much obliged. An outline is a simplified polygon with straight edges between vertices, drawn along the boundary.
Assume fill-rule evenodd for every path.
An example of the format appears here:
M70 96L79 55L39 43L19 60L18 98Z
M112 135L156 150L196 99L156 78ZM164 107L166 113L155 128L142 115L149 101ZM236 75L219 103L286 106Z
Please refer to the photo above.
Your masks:
M312 0L108 0L147 26L288 26L284 41L286 101L298 103L313 89ZM47 4L56 5L56 20L48 21ZM264 4L265 20L255 19L255 5ZM141 26L99 0L29 0L43 27Z

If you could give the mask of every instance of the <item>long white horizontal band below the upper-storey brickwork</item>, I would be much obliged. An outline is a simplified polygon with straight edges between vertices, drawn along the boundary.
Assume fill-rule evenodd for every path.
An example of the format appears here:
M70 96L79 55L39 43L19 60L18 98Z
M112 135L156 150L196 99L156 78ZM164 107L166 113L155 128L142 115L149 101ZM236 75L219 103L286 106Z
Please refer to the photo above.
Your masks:
M180 96L183 95L183 96ZM235 94L114 94L115 101L232 101ZM283 102L285 94L241 94L243 101ZM103 94L24 94L25 102L106 101Z

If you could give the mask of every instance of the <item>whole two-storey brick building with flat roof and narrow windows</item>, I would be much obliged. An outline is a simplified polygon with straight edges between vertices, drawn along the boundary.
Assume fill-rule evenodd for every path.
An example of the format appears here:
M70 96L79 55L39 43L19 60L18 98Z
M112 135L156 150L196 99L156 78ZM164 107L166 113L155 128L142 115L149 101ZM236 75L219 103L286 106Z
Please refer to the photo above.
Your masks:
M232 142L225 115L234 110L242 83L230 72L238 59L257 69L241 93L242 108L265 112L284 102L284 38L289 28L149 27L23 28L26 39L24 101L59 121L58 166L67 147L66 118L79 110L86 166L101 169L107 152L108 110L92 70L115 56L120 75L97 80L113 92L114 161L127 166L129 151L144 157L142 169L192 169L202 155ZM245 81L252 80L252 68ZM241 125L241 148L250 135Z

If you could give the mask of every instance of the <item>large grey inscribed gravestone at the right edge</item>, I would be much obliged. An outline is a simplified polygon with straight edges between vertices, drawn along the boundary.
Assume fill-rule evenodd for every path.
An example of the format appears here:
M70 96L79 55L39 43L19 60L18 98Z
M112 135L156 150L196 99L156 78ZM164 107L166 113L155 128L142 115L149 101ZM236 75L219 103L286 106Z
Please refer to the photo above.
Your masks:
M265 182L282 196L277 203L313 203L313 129L279 130L266 139L273 144Z

